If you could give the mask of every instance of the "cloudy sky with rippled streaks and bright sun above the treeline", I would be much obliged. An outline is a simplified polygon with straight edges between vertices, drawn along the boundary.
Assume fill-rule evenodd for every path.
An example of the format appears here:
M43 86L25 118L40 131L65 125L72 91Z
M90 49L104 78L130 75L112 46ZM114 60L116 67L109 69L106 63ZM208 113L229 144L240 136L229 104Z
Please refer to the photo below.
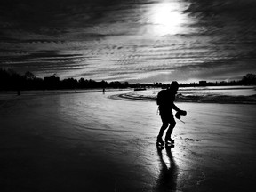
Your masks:
M0 68L130 83L256 74L254 0L8 0Z

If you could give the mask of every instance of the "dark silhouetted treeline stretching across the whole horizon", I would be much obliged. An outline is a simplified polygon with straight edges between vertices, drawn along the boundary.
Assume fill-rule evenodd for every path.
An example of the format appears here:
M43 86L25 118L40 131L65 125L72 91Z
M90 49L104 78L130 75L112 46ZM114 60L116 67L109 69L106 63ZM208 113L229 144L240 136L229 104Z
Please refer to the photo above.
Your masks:
M180 84L185 86L213 86L213 85L249 85L256 84L256 75L247 74L239 81L231 82L206 82ZM138 90L145 87L162 87L165 88L169 84L154 83L154 84L129 84L128 82L96 82L92 79L68 78L60 80L60 77L53 74L52 76L38 78L31 72L26 72L20 75L12 69L0 68L0 90L1 91L21 91L21 90L54 90L54 89L92 89L92 88L136 88Z

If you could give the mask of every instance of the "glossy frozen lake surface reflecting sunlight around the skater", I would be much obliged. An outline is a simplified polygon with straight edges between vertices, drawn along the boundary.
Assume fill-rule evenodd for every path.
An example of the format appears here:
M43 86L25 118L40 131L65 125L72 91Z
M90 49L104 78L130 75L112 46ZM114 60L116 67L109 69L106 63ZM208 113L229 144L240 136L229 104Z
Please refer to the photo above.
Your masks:
M3 191L243 191L254 186L254 105L180 102L175 148L157 150L156 102L122 92L0 103ZM238 185L239 184L239 185Z

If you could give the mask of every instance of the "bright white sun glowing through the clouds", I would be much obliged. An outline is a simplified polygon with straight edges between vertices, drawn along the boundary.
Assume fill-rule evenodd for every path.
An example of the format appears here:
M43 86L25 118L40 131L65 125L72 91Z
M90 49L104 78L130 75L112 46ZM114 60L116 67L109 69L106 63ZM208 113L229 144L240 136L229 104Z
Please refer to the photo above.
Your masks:
M186 15L182 13L178 4L156 4L150 12L153 31L157 35L175 35L183 30Z

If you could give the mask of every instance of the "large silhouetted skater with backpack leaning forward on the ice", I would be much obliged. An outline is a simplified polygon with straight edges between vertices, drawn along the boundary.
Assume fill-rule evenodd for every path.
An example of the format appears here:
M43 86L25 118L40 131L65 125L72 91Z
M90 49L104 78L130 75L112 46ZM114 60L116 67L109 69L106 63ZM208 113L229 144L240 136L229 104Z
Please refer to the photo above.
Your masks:
M159 106L159 113L162 119L162 127L160 129L160 132L157 136L156 144L157 145L164 145L164 141L162 140L162 137L164 135L165 129L168 130L165 134L165 144L171 144L174 145L174 140L172 140L171 135L172 135L172 130L176 125L174 116L172 114L172 109L176 110L176 118L180 119L181 116L186 116L187 112L180 110L175 104L175 95L177 94L177 91L179 89L179 84L176 81L172 81L172 84L170 87L168 87L166 90L161 90L157 94L157 99L156 103Z

